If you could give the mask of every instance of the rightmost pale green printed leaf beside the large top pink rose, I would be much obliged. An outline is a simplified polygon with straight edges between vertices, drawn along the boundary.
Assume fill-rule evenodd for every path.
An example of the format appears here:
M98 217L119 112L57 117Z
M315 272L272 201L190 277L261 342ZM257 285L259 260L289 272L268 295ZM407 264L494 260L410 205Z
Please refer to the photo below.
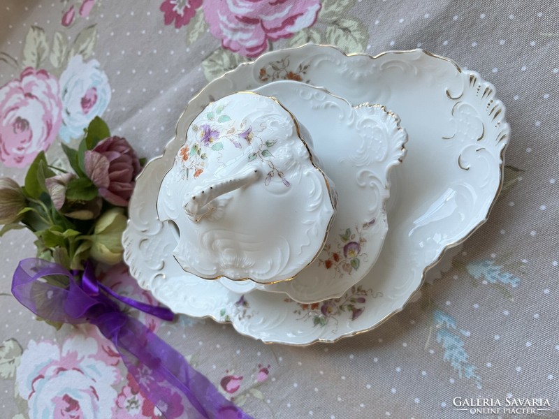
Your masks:
M356 19L340 18L326 28L324 41L344 52L363 52L369 40L368 27Z

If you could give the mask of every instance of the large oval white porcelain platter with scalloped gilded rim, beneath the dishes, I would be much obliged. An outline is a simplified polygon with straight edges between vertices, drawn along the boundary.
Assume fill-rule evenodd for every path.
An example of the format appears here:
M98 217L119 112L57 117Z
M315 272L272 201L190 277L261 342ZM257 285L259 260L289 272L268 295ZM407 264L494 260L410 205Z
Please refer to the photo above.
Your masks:
M172 256L161 258L172 255L176 240L157 219L155 200L189 124L217 98L284 79L324 87L352 105L381 103L408 134L405 163L391 177L390 229L377 263L342 297L316 304L282 293L233 293L185 274ZM444 250L486 221L502 185L508 140L493 85L449 59L423 50L348 56L319 45L268 52L190 101L164 155L138 177L124 258L138 284L173 311L231 322L243 335L293 345L356 335L400 311Z

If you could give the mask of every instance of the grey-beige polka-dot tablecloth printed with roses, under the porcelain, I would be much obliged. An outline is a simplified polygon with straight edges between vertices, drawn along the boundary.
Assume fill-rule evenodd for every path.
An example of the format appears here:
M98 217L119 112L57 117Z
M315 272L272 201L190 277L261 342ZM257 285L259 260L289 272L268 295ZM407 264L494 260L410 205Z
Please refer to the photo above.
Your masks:
M402 313L307 348L187 316L140 320L255 418L465 418L460 400L477 398L539 399L537 414L556 417L558 17L553 1L4 0L0 175L21 183L38 152L62 156L97 115L138 154L157 156L196 91L268 50L314 42L450 57L493 82L507 106L504 188L488 223ZM17 261L34 256L31 234L10 231L0 249L1 416L159 417L96 328L57 331L10 295ZM122 265L106 281L154 303Z

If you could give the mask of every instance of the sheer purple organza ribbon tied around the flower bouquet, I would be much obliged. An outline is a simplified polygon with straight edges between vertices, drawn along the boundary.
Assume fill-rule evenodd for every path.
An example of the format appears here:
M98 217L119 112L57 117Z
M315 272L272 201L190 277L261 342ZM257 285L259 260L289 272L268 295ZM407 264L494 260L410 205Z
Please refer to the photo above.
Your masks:
M69 288L45 282L45 277L70 279ZM225 399L212 383L183 356L159 339L143 323L124 314L107 294L131 307L164 320L173 312L115 294L100 284L87 264L79 284L71 272L43 259L24 259L13 274L14 297L37 316L61 323L92 323L115 344L117 351L147 399L166 418L252 419ZM103 291L103 292L101 292ZM180 397L182 409L177 409ZM188 401L189 404L184 403Z

